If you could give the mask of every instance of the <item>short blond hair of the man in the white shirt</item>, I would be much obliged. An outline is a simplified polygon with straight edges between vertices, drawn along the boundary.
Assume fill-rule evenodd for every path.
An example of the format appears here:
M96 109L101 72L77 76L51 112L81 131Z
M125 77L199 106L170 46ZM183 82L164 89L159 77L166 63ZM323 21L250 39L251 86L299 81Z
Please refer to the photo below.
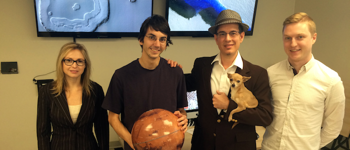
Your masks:
M315 22L313 22L312 18L304 12L297 12L297 13L294 13L293 15L288 16L283 22L282 32L284 31L285 25L290 23L297 23L297 22L306 22L310 33L314 34L316 32Z

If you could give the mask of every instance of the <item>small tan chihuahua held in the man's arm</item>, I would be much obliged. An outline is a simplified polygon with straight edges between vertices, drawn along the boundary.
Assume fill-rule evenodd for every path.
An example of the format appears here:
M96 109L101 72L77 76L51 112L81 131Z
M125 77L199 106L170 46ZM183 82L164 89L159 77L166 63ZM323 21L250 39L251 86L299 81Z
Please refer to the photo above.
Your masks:
M246 77L238 73L227 73L231 88L231 99L237 103L237 108L233 109L228 116L228 122L234 121L232 128L238 124L236 119L233 119L233 113L245 110L245 108L255 108L259 103L256 97L244 86L244 82L251 76Z

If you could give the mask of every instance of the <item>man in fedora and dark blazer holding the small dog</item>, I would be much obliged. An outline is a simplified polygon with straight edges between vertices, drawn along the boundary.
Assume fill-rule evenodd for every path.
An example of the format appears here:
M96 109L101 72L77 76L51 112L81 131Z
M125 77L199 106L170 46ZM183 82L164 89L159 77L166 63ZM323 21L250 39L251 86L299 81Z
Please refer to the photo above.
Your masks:
M267 72L243 59L238 51L248 28L237 12L229 9L221 11L215 25L209 28L219 53L196 58L191 74L185 79L187 91L197 90L199 103L191 141L192 150L255 150L255 125L267 126L272 121ZM234 113L233 118L238 124L231 128L233 122L228 122L228 115L237 104L230 100L227 73L234 72L251 76L244 84L259 103L255 108Z

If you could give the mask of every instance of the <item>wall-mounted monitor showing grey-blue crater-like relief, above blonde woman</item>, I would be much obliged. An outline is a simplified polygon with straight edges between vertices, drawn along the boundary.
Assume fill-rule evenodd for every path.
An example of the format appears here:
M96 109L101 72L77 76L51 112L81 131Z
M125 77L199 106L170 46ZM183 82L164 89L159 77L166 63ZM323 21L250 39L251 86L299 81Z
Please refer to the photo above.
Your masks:
M34 0L37 36L138 36L152 0Z

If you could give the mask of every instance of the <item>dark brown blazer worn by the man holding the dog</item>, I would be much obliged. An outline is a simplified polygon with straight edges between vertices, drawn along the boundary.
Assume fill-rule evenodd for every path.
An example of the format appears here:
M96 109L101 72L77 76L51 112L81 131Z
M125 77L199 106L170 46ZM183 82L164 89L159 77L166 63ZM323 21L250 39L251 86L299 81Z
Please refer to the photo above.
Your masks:
M210 89L210 74L213 67L211 62L215 56L196 58L191 74L186 77L187 90L197 90L198 117L192 136L191 149L256 149L257 139L255 125L267 126L272 121L272 107L270 104L270 87L266 69L251 64L243 59L243 69L237 67L236 73L251 76L244 82L259 101L256 108L248 108L233 114L238 124L231 129L233 122L228 122L229 112L237 107L233 100L229 100L227 113L222 118L217 114L212 104ZM230 99L230 96L228 96ZM262 135L259 135L262 136Z

